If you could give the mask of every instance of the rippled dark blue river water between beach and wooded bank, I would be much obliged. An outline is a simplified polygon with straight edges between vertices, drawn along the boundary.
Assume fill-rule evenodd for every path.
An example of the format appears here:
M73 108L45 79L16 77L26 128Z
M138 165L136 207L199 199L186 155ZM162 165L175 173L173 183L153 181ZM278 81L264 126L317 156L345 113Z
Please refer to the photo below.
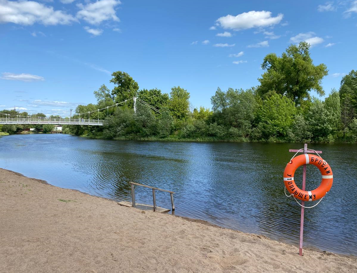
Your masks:
M357 255L357 149L318 144L333 170L330 192L305 209L304 245ZM129 182L176 192L175 214L298 245L300 206L286 198L282 174L293 156L288 143L166 143L86 139L65 134L0 138L0 168L92 195L131 201ZM295 180L301 187L302 167ZM300 181L300 183L298 183ZM307 190L321 174L307 165ZM152 191L136 187L136 201ZM65 198L65 197L64 197ZM156 192L170 208L170 195ZM306 203L310 205L310 202Z

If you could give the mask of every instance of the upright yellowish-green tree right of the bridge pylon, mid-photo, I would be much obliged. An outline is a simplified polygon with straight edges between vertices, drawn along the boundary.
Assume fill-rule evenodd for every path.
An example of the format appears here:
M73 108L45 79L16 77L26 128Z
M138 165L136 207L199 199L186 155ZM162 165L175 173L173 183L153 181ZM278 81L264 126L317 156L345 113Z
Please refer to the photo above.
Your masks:
M169 109L172 116L178 120L186 120L190 113L190 93L180 86L174 86L170 92Z

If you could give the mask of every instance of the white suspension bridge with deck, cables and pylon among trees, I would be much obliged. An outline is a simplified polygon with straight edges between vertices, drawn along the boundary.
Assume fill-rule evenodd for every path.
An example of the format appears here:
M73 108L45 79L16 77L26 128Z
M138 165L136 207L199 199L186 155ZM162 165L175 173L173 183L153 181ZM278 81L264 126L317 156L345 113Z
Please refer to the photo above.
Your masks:
M86 113L81 113L81 114L75 114L75 116L78 116L77 119L72 119L70 118L47 118L47 117L41 117L41 116L21 116L21 115L10 115L10 114L3 114L2 117L0 118L0 124L54 124L54 125L95 125L95 126L103 126L104 120L99 119L99 113L100 111L105 111L107 110L107 114L109 114L109 109L113 107L118 107L118 105L126 104L128 101L134 101L134 114L136 115L136 104L137 101L140 101L142 104L149 106L152 110L156 111L157 113L160 113L159 110L151 106L150 104L146 103L145 101L133 97L131 99L127 99L124 101L121 101L120 103L116 103L110 106L106 106L101 109L97 109L94 111L89 111ZM97 113L97 119L94 118L95 113ZM4 118L5 116L5 118ZM86 119L88 117L88 119Z

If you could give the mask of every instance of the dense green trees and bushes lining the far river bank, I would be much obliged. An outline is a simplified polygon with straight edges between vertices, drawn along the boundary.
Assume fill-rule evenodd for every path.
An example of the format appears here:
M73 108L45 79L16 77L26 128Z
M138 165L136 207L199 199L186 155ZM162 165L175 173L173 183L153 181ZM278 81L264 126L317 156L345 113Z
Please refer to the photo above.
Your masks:
M196 141L357 142L357 71L344 76L339 90L325 95L321 80L325 64L314 65L309 44L290 45L281 56L270 53L262 62L260 85L247 90L217 88L212 110L192 109L190 93L175 86L170 94L141 89L127 73L112 74L113 90L94 91L97 104L79 105L87 113L137 96L160 111L133 102L99 113L104 126L64 125L64 132L96 138ZM78 118L75 115L74 118ZM87 118L87 117L86 117ZM93 113L91 119L97 119Z

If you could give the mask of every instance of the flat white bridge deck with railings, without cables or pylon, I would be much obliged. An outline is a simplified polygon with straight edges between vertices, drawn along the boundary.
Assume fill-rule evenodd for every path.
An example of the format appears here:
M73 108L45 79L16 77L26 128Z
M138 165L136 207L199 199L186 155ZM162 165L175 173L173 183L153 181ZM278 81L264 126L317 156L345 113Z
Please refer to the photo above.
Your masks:
M103 126L102 119L64 119L42 117L0 118L0 124L54 124L54 125L99 125Z

